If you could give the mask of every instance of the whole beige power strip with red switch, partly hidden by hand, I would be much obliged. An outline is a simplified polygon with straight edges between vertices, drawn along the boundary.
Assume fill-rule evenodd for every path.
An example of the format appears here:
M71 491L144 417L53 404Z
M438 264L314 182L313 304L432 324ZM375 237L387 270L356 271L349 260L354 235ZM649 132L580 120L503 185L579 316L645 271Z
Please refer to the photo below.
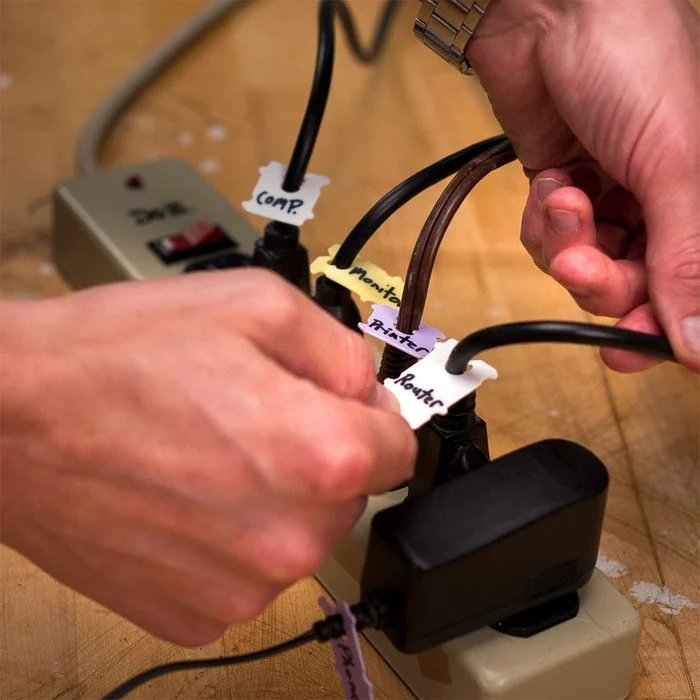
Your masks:
M54 192L53 259L75 289L245 266L257 238L180 160L102 171ZM373 348L378 365L381 353ZM404 489L371 498L318 572L336 600L359 599L372 517L405 495ZM420 699L622 700L632 683L639 615L597 571L579 596L574 619L529 639L486 628L408 655L381 632L364 634Z

